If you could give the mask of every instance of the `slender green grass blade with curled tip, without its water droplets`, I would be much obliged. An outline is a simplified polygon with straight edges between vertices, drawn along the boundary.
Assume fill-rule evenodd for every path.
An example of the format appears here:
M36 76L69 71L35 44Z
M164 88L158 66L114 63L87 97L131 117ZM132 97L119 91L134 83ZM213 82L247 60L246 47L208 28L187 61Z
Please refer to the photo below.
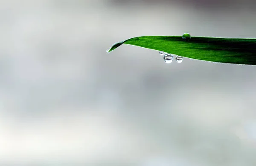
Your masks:
M197 60L256 65L256 39L191 37L190 40L184 41L181 36L142 36L116 43L108 52L122 44L145 47Z

